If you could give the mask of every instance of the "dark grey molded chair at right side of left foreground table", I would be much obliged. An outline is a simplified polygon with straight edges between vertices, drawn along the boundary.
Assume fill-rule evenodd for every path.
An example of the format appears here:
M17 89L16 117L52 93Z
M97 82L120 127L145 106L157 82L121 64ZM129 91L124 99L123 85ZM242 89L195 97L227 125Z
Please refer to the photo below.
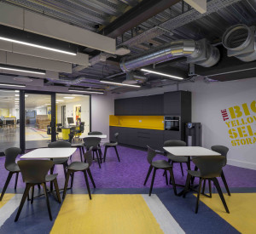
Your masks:
M96 188L96 185L95 185L94 180L92 178L92 175L90 173L90 165L92 164L91 151L92 151L92 147L90 147L89 151L86 151L84 153L84 162L87 162L87 163L73 162L67 167L67 178L66 178L66 181L65 181L65 187L64 187L64 192L63 192L62 199L64 199L65 196L66 196L67 184L68 184L70 174L74 174L75 172L78 172L78 171L84 172L84 179L85 179L85 182L86 182L87 191L88 191L89 197L91 199L90 186L89 186L88 177L87 177L87 174L86 174L86 173L88 173L92 185ZM71 179L71 187L73 186L73 177L74 176L72 176L72 179Z

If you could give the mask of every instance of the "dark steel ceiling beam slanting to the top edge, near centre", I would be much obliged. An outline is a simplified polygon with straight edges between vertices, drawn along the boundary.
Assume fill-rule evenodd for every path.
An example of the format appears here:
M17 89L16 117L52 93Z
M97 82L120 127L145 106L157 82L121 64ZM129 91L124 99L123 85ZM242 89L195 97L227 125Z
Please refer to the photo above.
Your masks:
M143 2L138 3L137 6L128 10L118 19L113 20L113 22L103 28L101 32L108 37L118 37L125 31L131 30L133 27L138 26L178 2L180 2L180 0L143 0Z

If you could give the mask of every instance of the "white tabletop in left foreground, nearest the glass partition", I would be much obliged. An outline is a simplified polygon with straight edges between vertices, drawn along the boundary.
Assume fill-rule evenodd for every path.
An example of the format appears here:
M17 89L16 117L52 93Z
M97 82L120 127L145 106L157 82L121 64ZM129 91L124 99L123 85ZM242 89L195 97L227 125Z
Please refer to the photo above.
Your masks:
M58 158L70 157L77 148L41 148L30 151L20 158Z

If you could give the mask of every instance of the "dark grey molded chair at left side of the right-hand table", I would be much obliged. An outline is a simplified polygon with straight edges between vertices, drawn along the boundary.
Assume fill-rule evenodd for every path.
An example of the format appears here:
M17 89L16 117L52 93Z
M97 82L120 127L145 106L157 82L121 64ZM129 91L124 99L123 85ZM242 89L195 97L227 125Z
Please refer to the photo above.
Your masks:
M148 181L148 177L151 174L152 169L154 168L153 176L152 176L152 180L151 180L151 185L150 185L150 189L149 189L149 196L151 196L151 193L152 193L152 189L153 189L153 185L154 185L155 172L156 172L157 169L163 169L165 171L168 170L170 172L173 191L174 191L174 194L177 195L176 184L175 184L174 175L173 175L173 171L172 171L172 165L170 163L168 163L166 160L153 161L153 159L156 155L156 151L151 149L149 146L147 146L147 147L148 147L147 160L148 160L148 163L150 164L150 166L148 168L148 174L147 174L146 180L144 181L144 185L146 185L146 183ZM168 185L167 174L166 174L166 185Z

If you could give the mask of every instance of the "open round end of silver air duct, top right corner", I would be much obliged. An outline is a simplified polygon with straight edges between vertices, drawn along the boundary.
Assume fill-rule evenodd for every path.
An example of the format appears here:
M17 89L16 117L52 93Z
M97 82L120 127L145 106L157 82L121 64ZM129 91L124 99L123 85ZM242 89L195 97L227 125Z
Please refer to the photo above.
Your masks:
M224 32L222 43L228 50L228 56L250 62L256 60L255 27L236 25Z

